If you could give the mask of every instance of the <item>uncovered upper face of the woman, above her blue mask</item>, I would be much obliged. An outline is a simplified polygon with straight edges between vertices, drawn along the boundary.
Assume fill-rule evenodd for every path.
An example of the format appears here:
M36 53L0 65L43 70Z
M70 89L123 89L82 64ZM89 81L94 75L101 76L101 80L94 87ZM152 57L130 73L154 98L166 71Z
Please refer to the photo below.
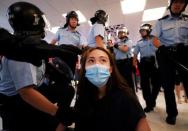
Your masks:
M109 57L105 52L101 50L96 49L89 53L86 59L85 68L94 64L110 67L109 71L110 73L112 72Z

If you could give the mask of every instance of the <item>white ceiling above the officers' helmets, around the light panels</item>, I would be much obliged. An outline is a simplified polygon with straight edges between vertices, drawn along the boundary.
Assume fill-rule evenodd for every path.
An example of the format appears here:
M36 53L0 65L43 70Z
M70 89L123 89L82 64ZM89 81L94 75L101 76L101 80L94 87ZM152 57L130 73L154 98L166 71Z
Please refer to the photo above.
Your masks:
M11 31L11 28L7 21L7 8L10 4L19 0L0 0L0 26ZM80 10L89 20L93 17L94 12L98 9L103 9L109 14L110 25L125 24L129 29L130 38L136 42L140 39L138 34L139 26L142 24L142 12L123 15L120 6L120 0L25 0L37 5L46 15L51 26L63 26L65 18L62 17L63 13L71 10ZM136 1L134 0L135 4ZM151 8L157 8L167 6L168 0L147 0L145 10ZM186 10L186 12L188 12ZM155 15L155 14L153 14ZM150 21L154 24L155 21ZM89 24L83 23L80 25L79 30L84 35L88 34ZM47 40L50 41L53 34L47 33Z

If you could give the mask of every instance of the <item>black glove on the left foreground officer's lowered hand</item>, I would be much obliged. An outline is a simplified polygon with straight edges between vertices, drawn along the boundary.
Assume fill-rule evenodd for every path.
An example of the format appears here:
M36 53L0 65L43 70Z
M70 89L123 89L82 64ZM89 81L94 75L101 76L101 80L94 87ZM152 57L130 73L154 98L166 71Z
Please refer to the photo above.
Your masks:
M70 126L73 123L73 109L70 107L59 106L55 117L65 126Z

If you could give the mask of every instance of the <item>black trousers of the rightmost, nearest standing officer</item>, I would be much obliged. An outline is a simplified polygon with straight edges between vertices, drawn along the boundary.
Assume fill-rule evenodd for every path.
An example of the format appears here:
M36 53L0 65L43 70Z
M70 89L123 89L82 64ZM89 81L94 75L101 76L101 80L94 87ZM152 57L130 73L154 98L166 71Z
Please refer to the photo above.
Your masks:
M181 46L166 47L164 49L165 50L158 50L156 55L161 74L162 87L164 88L166 112L168 116L175 117L178 115L174 94L176 71L178 71L184 84L186 94L188 94L188 70L185 69L188 67L188 46L183 48L181 48Z

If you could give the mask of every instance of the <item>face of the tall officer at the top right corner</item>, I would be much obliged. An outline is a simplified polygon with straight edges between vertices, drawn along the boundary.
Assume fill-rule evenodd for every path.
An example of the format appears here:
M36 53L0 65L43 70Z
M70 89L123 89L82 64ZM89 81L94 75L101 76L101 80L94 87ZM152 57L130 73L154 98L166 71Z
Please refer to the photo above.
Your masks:
M179 14L182 12L185 6L185 0L175 0L171 5L171 11L174 14Z

